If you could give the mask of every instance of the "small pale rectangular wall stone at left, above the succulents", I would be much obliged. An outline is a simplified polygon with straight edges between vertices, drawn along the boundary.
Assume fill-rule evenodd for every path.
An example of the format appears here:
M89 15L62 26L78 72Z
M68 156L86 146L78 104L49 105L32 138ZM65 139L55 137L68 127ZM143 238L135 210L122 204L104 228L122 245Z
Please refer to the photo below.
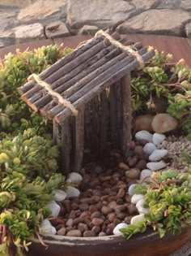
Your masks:
M17 42L45 38L44 27L40 23L21 25L19 27L14 28L14 31L15 39Z

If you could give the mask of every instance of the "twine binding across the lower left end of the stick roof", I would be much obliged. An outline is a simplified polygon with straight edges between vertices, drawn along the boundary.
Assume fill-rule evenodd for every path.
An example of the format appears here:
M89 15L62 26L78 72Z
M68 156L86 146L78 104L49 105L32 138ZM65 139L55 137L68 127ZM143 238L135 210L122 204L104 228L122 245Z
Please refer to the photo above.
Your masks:
M41 87L45 88L52 97L57 98L57 101L59 103L61 103L63 106L70 108L70 111L72 111L72 113L74 115L78 115L78 111L71 104L71 102L69 102L65 98L63 98L59 93L54 92L53 89L51 88L51 86L49 84L47 84L44 80L41 80L38 75L32 74L31 76L28 76L28 80L35 80L36 83L38 85L40 85Z

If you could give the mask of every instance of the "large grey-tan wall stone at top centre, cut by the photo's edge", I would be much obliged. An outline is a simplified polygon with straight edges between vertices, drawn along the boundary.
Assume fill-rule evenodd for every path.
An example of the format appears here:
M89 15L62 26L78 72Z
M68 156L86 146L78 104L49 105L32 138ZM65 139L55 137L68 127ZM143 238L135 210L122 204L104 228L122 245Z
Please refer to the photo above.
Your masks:
M135 12L136 8L124 0L70 0L67 22L74 29L82 28L83 25L108 28L127 20Z

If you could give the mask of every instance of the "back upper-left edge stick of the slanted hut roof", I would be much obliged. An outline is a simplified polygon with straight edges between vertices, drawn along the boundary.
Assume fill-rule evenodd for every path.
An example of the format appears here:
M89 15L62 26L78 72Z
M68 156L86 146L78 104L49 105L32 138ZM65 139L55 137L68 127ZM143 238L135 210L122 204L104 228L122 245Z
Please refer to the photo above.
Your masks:
M103 41L103 39L103 37L96 37L91 39L91 42L87 42L87 44L85 44L84 46L81 46L79 49L74 50L74 52L72 52L71 54L66 55L65 58L58 60L57 63L54 63L51 67L46 69L45 72L42 72L40 74L40 78L45 80L48 76L51 76L54 72L63 67L63 65L69 63L72 59L77 58L87 50L91 49L92 46L96 46L98 43L100 43L100 41ZM34 84L34 81L29 81L27 84L19 88L19 93L26 93L29 89L32 89Z

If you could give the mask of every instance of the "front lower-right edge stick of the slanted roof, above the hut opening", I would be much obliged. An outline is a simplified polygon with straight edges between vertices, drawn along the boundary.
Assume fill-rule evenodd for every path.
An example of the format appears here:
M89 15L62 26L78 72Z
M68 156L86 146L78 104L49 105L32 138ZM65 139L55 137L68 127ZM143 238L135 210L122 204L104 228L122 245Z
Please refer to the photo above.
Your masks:
M154 50L146 52L146 54L142 55L142 59L144 61L146 61L147 59L150 59L152 56L154 56L154 54L155 54ZM131 58L131 57L128 57L128 58ZM79 98L76 102L73 103L74 107L76 107L78 109L80 106L86 104L92 98L94 98L98 93L101 93L104 89L106 89L108 85L115 83L117 80L121 79L125 75L126 72L128 72L128 71L131 72L132 70L134 70L137 67L139 67L139 63L138 63L137 59L125 66L122 66L122 67L120 66L119 69L117 68L117 71L112 73L112 76L110 73L109 76L107 76L107 78L103 82L99 83L99 85L94 86L93 89L84 93L81 98ZM112 72L113 72L113 70L112 70ZM67 109L62 110L54 118L60 124L62 122L62 120L66 119L66 117L70 116L71 114L72 113L71 113L70 109L67 108Z

